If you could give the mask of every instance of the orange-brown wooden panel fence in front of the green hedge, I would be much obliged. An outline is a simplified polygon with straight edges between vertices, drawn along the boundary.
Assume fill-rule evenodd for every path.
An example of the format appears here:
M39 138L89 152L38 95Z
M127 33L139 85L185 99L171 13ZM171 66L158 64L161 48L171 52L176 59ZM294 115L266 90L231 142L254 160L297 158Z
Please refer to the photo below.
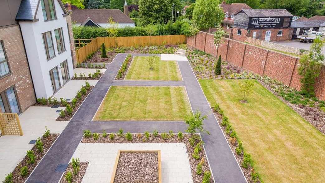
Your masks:
M90 43L76 50L77 61L82 63L89 54L96 51L102 44L106 48L136 47L152 45L175 45L185 44L185 35L153 35L153 36L130 36L130 37L97 37Z

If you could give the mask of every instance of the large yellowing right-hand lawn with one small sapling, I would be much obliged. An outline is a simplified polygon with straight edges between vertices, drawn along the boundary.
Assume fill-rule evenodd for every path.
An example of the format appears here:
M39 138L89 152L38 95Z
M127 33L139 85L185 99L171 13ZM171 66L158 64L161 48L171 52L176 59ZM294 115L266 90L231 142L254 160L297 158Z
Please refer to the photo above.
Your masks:
M200 80L211 106L220 104L264 182L325 182L325 136L254 80L248 103L242 80Z

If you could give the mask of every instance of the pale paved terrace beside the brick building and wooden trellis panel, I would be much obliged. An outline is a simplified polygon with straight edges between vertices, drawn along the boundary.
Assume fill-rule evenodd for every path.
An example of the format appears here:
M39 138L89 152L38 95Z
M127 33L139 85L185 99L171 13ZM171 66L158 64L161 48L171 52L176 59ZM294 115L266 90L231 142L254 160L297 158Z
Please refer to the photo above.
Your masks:
M31 106L19 115L24 135L3 135L0 137L0 182L5 179L6 174L15 169L25 157L27 150L32 149L34 144L29 144L29 142L42 137L45 126L51 133L59 134L63 131L68 121L56 121L59 117L56 110L64 108Z

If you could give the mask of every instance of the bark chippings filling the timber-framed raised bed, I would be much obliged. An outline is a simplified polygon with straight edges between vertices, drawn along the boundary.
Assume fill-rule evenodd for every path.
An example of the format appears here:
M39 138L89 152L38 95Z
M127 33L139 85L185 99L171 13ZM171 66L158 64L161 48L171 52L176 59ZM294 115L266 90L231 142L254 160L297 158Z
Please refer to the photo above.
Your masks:
M114 182L158 182L158 152L121 152Z

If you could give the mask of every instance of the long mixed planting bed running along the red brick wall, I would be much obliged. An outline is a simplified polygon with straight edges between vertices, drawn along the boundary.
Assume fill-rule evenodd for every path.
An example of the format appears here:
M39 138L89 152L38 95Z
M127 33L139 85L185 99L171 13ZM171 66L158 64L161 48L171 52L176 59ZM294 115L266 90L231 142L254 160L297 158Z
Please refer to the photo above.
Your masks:
M216 57L203 51L187 50L186 56L198 79L256 79L305 120L325 134L325 102L315 96L302 93L267 76L260 76L222 61L221 75L214 74Z

